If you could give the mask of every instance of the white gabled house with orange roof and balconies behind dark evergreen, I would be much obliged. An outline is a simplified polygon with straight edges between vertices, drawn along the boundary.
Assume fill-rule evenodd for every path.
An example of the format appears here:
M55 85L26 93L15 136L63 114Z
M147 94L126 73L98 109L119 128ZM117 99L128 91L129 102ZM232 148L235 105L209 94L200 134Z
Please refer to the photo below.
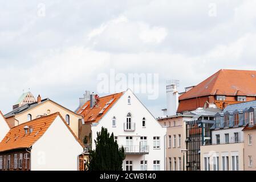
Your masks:
M119 146L124 146L124 170L165 170L166 129L130 89L106 97L91 97L78 113L84 115L84 127L88 132L91 127L92 141L101 127L105 127L115 135ZM95 149L95 142L92 148Z

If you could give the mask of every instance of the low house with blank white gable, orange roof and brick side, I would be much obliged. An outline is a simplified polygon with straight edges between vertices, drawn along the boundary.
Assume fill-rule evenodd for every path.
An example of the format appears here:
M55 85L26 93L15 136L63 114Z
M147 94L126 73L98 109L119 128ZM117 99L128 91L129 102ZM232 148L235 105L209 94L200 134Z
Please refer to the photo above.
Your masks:
M11 128L0 143L0 171L77 171L82 142L59 113Z

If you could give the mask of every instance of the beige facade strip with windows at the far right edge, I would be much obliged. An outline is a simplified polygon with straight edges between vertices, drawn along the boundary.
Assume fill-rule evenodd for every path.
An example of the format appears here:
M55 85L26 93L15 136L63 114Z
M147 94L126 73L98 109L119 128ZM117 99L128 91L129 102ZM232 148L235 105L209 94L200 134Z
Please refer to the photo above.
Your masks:
M256 130L243 131L245 171L256 171Z

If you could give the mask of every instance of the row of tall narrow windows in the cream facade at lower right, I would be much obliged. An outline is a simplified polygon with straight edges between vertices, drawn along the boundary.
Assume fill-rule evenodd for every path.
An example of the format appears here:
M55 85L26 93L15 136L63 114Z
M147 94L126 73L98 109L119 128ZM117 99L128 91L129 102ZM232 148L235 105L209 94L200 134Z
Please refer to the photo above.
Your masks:
M222 171L229 171L229 156L222 156ZM239 158L238 156L231 156L232 171L239 171ZM213 156L212 161L210 157L204 158L205 171L210 171L210 166L213 166L213 171L220 171L220 157Z

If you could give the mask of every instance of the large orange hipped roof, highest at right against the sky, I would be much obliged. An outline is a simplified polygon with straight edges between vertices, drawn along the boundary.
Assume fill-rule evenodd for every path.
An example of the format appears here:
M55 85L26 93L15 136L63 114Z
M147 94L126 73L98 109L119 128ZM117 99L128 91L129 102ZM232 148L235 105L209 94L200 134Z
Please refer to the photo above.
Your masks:
M179 100L213 95L256 96L256 71L221 69L182 94Z

